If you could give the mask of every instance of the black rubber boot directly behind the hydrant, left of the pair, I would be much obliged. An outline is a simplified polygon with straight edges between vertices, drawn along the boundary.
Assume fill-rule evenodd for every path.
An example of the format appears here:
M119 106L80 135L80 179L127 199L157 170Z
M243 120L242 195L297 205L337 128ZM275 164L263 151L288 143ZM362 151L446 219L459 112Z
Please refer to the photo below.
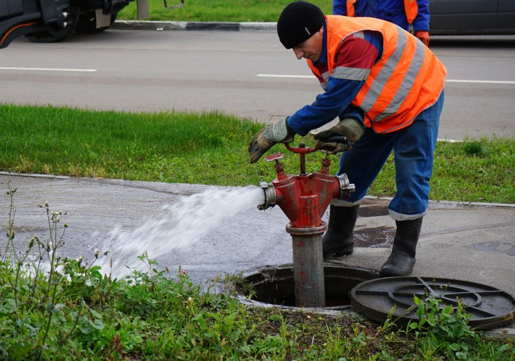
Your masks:
M354 250L354 226L359 205L329 208L329 226L322 237L323 258L350 255Z

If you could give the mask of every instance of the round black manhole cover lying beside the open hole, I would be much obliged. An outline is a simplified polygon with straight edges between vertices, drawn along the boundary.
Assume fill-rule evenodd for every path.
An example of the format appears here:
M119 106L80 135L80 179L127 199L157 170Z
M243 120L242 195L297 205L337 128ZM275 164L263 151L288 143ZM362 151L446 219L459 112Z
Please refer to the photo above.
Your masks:
M375 321L384 322L393 306L392 319L398 326L416 321L419 299L440 299L440 308L456 308L461 301L472 318L469 325L478 329L506 326L515 320L515 299L504 291L484 284L445 278L389 277L362 282L351 291L354 310Z

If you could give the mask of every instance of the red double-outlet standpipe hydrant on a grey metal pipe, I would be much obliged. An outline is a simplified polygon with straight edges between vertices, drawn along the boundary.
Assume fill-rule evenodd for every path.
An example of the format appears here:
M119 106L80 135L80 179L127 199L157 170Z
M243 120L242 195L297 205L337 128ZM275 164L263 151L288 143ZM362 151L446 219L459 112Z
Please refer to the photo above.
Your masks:
M325 307L322 234L327 223L322 221L322 215L333 198L348 199L355 187L349 183L346 174L329 174L329 154L322 159L319 172L306 174L305 154L317 149L305 147L303 143L295 148L285 146L289 151L299 153L300 173L291 175L284 172L279 161L283 157L281 153L265 157L266 161L276 162L277 178L271 183L261 182L265 203L258 208L278 205L290 221L286 232L291 234L293 245L296 306Z

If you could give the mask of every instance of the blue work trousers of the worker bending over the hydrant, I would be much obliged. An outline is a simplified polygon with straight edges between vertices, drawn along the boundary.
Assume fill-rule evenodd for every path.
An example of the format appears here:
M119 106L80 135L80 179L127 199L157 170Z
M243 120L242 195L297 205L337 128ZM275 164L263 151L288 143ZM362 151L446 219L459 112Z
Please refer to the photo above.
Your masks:
M443 98L442 91L433 106L401 130L377 134L367 128L352 149L340 157L338 174L347 174L356 191L351 193L348 201L333 200L332 204L353 206L361 203L393 150L397 192L388 206L390 216L396 221L423 216L429 201L429 180L433 173L433 153Z

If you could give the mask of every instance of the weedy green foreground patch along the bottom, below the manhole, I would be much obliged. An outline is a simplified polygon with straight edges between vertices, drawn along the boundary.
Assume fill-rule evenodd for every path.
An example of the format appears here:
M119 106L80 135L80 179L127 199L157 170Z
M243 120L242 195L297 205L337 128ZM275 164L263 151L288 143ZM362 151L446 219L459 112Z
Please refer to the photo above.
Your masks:
M172 276L147 255L147 272L113 279L94 262L59 256L66 212L41 205L48 237L20 252L14 201L0 255L0 359L5 360L495 360L515 359L513 338L492 339L468 325L462 306L415 298L419 320L398 329L359 316L247 308L229 292ZM23 241L22 241L23 242ZM95 253L95 258L99 257ZM241 278L228 277L244 285ZM232 282L232 283L231 283ZM251 297L251 295L249 295ZM393 312L393 311L392 311ZM390 314L391 315L391 314Z

